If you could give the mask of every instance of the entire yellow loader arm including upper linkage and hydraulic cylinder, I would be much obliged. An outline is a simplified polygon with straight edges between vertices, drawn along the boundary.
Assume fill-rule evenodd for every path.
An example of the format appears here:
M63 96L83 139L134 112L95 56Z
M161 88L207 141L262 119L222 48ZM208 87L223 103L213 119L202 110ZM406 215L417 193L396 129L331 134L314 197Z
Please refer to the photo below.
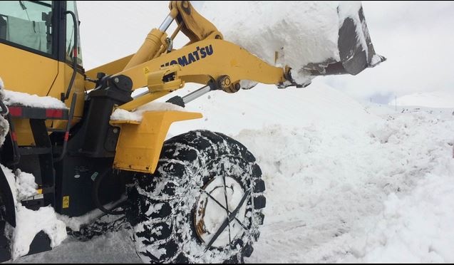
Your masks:
M159 28L153 28L148 33L137 53L86 73L90 78L98 72L113 75L113 78L126 76L132 80L132 90L145 86L149 88L150 93L120 108L133 110L182 88L188 82L202 85L215 83L215 89L232 93L239 90L240 80L279 85L289 79L286 78L288 68L272 66L244 48L224 41L222 33L198 14L190 1L170 1L169 7L167 18ZM165 31L172 21L177 22L177 28L167 37ZM182 48L172 49L172 40L180 31L190 41ZM156 78L160 71L164 71L167 78ZM168 78L169 75L171 78Z

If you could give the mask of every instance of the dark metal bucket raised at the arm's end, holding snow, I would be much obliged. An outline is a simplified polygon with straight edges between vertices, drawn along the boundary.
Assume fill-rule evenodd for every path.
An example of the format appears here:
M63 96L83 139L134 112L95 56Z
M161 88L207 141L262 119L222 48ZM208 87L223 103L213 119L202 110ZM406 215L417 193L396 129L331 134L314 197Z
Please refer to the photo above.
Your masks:
M341 14L339 14L340 18ZM386 60L385 57L377 55L373 49L362 6L358 9L356 19L347 16L341 22L338 48L339 61L330 58L323 62L308 63L303 69L309 71L311 76L356 75L364 69L376 66Z

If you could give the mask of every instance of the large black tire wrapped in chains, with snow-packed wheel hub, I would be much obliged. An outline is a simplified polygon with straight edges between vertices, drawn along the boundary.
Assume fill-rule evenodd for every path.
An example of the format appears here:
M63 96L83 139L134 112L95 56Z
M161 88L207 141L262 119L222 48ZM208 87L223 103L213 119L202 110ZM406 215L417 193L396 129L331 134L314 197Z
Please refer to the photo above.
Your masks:
M264 220L261 176L247 148L221 133L167 140L155 173L137 173L128 189L138 256L146 263L243 262Z

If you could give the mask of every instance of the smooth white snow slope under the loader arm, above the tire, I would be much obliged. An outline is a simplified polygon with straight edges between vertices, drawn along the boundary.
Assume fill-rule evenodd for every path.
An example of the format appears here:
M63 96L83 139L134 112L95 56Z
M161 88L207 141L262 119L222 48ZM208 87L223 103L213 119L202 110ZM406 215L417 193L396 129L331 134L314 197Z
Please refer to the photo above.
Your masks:
M175 95L185 95L188 91L177 91ZM274 124L310 126L333 120L363 128L376 119L355 100L316 81L308 88L257 85L235 94L214 91L189 103L187 110L199 111L204 118L175 123L170 128L171 135L193 129L236 134L244 128L261 130Z

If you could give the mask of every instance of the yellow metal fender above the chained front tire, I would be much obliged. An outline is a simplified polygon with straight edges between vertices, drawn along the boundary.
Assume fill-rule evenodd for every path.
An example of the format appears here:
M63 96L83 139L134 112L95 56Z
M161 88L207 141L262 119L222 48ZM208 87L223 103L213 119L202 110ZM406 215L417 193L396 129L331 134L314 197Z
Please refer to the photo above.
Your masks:
M143 120L139 124L130 120L110 121L110 124L121 128L113 167L119 170L153 174L170 125L178 120L197 118L202 118L202 114L182 111L148 111L143 113Z

